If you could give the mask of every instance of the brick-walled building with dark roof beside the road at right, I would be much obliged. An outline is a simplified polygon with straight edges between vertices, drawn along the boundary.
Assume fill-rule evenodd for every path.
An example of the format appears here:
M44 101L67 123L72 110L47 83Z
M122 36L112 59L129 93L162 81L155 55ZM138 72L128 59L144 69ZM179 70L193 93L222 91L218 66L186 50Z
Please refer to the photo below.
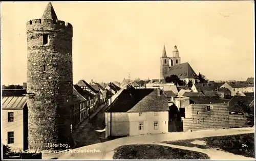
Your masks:
M183 131L245 127L243 115L229 114L229 100L217 97L190 97L185 107Z

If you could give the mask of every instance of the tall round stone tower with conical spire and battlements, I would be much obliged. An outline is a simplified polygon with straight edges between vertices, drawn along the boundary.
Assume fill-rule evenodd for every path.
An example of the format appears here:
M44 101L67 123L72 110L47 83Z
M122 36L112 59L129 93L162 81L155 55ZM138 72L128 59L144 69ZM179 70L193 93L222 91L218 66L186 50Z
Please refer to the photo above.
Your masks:
M30 150L60 150L73 143L72 37L73 26L57 19L51 3L41 19L27 22Z

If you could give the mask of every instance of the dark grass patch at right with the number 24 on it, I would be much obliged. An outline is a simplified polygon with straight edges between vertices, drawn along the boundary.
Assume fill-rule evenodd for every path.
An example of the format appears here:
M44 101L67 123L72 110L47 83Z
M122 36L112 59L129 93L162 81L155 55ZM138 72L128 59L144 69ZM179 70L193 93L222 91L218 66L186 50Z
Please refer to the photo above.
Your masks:
M205 141L206 145L192 144L191 142L195 140ZM178 140L164 143L187 147L198 147L201 149L219 148L233 154L254 158L254 133L189 140Z

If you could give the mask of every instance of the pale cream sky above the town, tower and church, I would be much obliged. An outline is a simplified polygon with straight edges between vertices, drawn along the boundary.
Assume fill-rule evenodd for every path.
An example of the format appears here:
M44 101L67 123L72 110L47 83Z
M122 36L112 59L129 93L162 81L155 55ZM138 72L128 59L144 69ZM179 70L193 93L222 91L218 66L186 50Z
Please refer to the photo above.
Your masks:
M22 84L27 73L26 22L48 2L2 2L2 84ZM254 76L253 1L52 2L73 25L73 83L157 79L163 44L174 45L210 80Z

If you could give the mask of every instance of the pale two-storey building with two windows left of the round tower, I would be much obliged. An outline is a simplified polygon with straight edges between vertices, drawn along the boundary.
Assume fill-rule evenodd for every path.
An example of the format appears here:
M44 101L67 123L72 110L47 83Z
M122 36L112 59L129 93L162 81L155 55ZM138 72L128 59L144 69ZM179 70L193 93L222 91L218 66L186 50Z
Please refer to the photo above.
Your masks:
M26 96L2 99L2 142L11 150L28 149L28 108Z

